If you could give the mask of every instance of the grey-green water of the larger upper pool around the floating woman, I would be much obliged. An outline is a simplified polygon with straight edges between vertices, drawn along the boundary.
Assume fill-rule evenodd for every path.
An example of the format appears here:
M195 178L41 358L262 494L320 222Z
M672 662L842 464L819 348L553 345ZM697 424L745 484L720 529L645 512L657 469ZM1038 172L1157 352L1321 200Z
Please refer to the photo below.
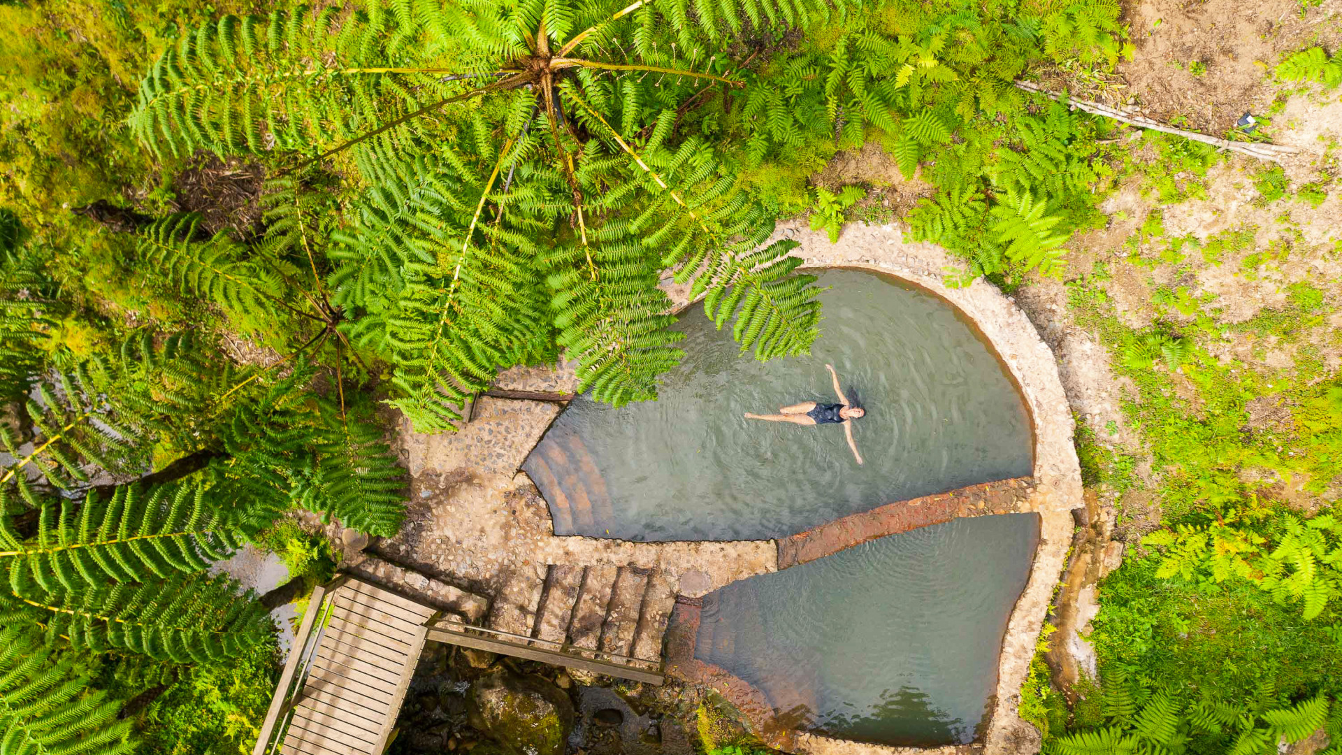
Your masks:
M887 275L827 270L811 356L760 363L699 306L676 329L686 356L656 402L570 402L523 469L556 535L753 540L878 505L1031 473L1029 418L1013 383L949 304ZM867 415L854 426L742 418L835 402L825 364Z

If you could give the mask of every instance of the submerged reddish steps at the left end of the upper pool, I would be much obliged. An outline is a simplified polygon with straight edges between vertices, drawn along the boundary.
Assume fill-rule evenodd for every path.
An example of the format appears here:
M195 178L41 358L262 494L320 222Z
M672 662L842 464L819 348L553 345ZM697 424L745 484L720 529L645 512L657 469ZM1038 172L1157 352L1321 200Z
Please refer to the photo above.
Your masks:
M611 494L582 439L552 427L522 463L550 504L556 535L596 535L611 521Z

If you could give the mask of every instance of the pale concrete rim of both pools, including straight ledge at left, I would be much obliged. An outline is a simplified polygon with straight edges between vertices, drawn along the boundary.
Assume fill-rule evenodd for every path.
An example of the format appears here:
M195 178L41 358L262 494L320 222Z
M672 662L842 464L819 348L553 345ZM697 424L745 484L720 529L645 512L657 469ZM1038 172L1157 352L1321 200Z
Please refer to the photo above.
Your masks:
M956 516L1025 512L1040 515L1039 547L1025 588L1007 623L998 656L996 695L988 701L989 715L980 739L962 746L888 747L790 732L788 750L812 755L1036 752L1039 734L1019 716L1020 686L1028 673L1035 643L1052 601L1052 590L1062 575L1071 544L1074 528L1071 510L1083 506L1080 468L1072 445L1072 415L1052 351L1011 297L982 279L962 287L946 286L946 273L962 270L962 263L937 246L906 242L903 234L894 226L849 224L844 228L839 243L831 245L824 234L809 231L803 223L789 222L780 224L776 238L792 238L800 242L793 255L801 258L807 267L848 267L882 273L931 293L950 304L964 321L978 330L1024 399L1033 434L1032 477L1028 485L1021 486L1007 504L1000 506L966 509L961 505L964 501L956 505L945 501L943 504L954 510ZM684 296L688 286L666 287L678 310L690 304ZM828 525L821 525L824 527ZM692 590L684 590L686 582L682 578L682 592L687 594L687 605L725 582L750 576L749 572L765 574L792 566L786 560L780 563L778 558L782 553L778 541L628 543L581 536L552 537L552 540L554 547L548 549L553 549L556 556L562 553L574 563L607 560L619 553L621 559L643 566L658 564L682 575L688 574L682 566L687 556L715 562L749 556L758 563L769 551L773 552L772 564L764 563L749 570L721 568L718 570L721 574L710 570L714 574L705 574L706 579ZM668 646L671 643L668 637Z

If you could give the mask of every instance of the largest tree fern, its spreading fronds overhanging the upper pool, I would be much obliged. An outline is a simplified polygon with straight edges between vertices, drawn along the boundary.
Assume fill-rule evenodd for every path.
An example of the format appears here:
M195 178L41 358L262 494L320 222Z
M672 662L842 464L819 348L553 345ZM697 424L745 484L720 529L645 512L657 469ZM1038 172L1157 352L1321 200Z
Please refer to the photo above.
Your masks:
M663 142L678 105L725 81L726 63L705 46L757 23L746 19L816 23L829 3L415 5L201 26L145 78L132 124L178 153L354 146L348 154L370 188L361 223L336 236L330 283L354 316L345 333L396 364L391 400L417 429L450 429L501 367L552 356L550 343L570 348L584 386L603 396L651 398L676 356L659 275L647 274L659 263L678 266L699 293L741 289L750 310L737 332L758 356L809 345L813 308L794 301L809 289L774 278L780 254L758 254L772 231L764 211L706 163L702 144ZM518 73L519 60L535 67ZM569 69L576 75L561 75ZM629 75L640 71L658 78ZM793 78L812 73L803 66ZM757 97L780 138L796 140L797 114L781 103L797 97L807 95L794 86ZM451 109L474 98L501 105ZM589 101L609 117L593 120ZM429 112L444 120L417 117ZM647 136L636 156L629 140ZM542 258L544 300L533 273ZM789 313L800 320L777 321ZM620 343L593 347L596 332Z

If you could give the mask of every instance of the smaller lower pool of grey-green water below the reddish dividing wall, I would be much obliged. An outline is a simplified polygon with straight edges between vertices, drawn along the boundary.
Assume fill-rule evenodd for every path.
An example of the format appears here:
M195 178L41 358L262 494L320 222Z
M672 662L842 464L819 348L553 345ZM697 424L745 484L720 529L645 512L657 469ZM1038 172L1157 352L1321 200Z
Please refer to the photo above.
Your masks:
M777 725L894 746L976 738L1037 515L891 535L703 599L695 657L769 697Z

